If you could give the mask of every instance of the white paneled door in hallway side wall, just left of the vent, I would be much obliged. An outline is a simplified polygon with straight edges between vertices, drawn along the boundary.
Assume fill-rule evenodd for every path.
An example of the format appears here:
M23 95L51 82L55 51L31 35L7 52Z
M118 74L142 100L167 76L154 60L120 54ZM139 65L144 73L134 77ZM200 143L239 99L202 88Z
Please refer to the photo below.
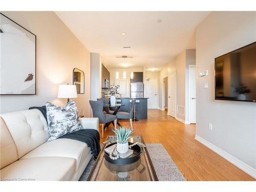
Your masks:
M168 75L168 115L176 118L176 71Z

